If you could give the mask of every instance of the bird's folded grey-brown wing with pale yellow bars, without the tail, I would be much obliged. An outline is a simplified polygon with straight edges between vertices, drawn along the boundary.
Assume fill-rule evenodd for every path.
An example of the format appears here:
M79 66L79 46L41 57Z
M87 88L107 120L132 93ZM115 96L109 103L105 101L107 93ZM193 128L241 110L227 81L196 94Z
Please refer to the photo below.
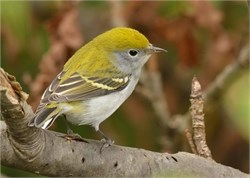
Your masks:
M92 97L120 91L128 85L130 80L129 75L106 78L81 76L78 73L74 73L68 79L62 81L64 74L64 71L59 73L45 90L36 113L50 103L87 100Z

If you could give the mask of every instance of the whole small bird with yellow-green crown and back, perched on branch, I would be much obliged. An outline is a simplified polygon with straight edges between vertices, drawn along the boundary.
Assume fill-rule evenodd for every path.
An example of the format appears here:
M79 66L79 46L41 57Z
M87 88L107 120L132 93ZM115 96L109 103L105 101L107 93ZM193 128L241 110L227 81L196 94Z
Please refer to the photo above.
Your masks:
M133 92L143 65L164 49L137 30L113 28L80 48L45 90L30 126L47 129L64 115L76 125L99 125Z

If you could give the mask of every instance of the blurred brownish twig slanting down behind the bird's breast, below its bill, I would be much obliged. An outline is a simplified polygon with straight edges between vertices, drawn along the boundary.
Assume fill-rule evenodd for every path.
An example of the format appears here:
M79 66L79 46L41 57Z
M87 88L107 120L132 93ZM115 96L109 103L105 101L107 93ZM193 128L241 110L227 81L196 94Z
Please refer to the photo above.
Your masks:
M140 83L142 85L137 87L137 90L148 99L157 116L159 126L162 130L162 139L160 139L162 148L168 148L171 150L171 147L174 145L173 137L170 137L170 135L166 133L170 132L173 126L172 121L169 119L170 113L163 91L161 73L158 69L159 67L156 57L156 55L153 55L147 63L147 70L142 70L140 78Z

